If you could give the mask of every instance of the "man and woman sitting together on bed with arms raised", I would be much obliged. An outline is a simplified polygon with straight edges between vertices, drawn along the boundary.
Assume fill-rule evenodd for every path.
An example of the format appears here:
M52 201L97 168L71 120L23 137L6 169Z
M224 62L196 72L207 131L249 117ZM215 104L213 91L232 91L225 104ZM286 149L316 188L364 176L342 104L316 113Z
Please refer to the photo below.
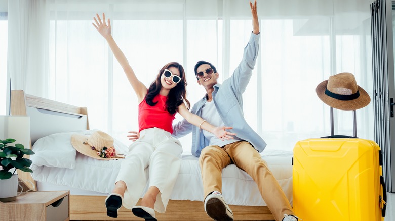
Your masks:
M112 38L109 19L106 23L104 13L102 19L96 14L93 25L107 40L139 100L140 132L129 136L132 140L138 139L130 145L115 188L105 200L108 216L116 218L121 206L132 209L134 215L145 220L156 220L155 210L165 212L181 164L182 147L174 137L192 132L192 154L200 157L204 206L211 218L233 220L232 211L221 195L221 171L234 163L258 184L263 200L276 220L297 220L279 183L259 154L265 148L265 142L243 117L242 95L256 62L260 36L256 1L254 4L250 2L250 7L253 31L242 62L222 85L217 82L219 73L211 63L198 62L194 67L195 76L207 94L191 112L188 111L183 67L176 62L165 65L147 89ZM176 112L184 120L172 125ZM144 169L148 166L149 188L141 205L136 206L146 186Z

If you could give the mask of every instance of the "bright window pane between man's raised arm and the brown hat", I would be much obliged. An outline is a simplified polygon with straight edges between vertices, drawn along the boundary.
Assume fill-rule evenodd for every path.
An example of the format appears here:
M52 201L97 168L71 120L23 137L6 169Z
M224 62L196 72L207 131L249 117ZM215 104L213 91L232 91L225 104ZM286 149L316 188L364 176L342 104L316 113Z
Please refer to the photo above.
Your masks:
M261 26L270 30L261 36L262 137L267 148L292 150L298 140L324 136L315 87L330 75L329 35L295 33L292 19Z

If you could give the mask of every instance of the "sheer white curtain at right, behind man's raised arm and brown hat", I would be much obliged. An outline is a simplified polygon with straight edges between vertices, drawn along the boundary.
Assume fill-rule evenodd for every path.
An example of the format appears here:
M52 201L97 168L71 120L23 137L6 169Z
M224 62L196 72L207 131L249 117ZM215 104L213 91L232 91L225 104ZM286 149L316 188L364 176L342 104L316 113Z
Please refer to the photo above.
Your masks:
M243 2L225 0L232 71L242 56L233 46L248 39ZM260 59L244 94L245 116L268 149L292 150L298 140L330 135L330 107L315 87L330 75L351 72L372 96L369 1L259 1ZM226 27L224 27L226 30ZM229 37L229 40L225 40ZM231 73L231 72L230 72ZM353 134L351 111L335 109L335 134ZM257 119L257 120L256 120ZM373 105L357 111L357 135L374 139Z

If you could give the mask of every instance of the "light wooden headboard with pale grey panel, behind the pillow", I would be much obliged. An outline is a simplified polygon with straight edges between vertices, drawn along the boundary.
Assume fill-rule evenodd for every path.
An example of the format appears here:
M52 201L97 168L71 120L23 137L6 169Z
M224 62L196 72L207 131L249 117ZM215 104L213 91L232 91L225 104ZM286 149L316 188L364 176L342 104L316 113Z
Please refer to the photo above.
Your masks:
M30 149L37 139L50 134L81 129L89 130L86 107L32 96L25 94L23 90L11 91L11 115L30 116ZM28 155L25 156L28 157ZM30 189L37 190L36 183L30 173L18 170L18 177Z

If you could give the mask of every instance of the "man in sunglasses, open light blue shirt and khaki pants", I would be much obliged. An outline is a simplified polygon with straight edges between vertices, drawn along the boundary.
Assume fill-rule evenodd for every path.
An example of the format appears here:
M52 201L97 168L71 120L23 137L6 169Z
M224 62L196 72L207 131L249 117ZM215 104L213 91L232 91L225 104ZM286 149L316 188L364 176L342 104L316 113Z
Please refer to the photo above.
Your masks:
M256 0L250 2L253 31L244 49L243 60L233 75L221 84L219 73L209 62L199 61L194 72L198 84L207 94L191 112L214 126L233 127L234 139L221 141L213 134L189 124L185 119L173 125L173 136L192 132L192 154L199 157L205 194L205 211L214 220L233 220L233 214L221 195L222 169L234 163L258 184L259 191L276 220L298 220L279 183L262 160L259 152L266 146L263 139L247 124L243 116L243 92L251 78L258 55L259 22ZM205 121L201 123L204 124Z

